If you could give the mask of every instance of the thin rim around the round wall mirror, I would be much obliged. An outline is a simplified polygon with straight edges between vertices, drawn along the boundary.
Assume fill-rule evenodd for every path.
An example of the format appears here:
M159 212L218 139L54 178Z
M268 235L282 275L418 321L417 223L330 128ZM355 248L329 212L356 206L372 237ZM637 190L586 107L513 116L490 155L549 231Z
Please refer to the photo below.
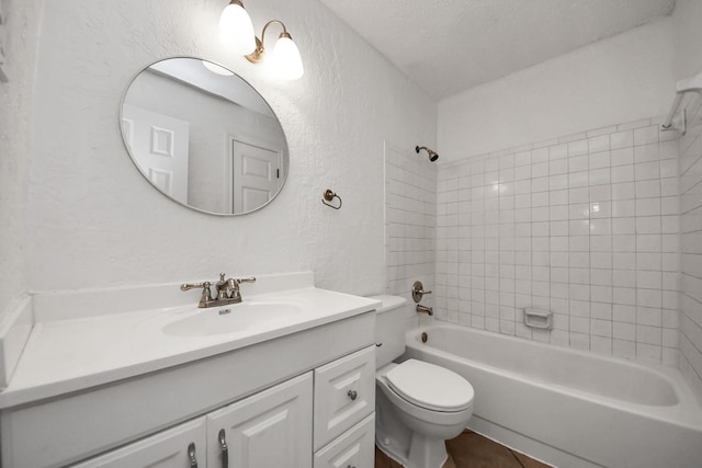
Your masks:
M248 212L242 212L242 213L217 213L217 212L210 212L207 209L203 209L203 208L199 208L196 206L192 206L189 205L186 203L183 203L179 199L176 199L174 197L172 197L171 195L169 195L168 193L163 192L158 185L156 185L156 183L154 183L149 176L144 172L144 170L141 169L141 167L139 165L139 163L137 162L135 156L132 153L132 150L129 149L129 146L127 144L127 137L125 135L125 128L123 125L123 118L124 118L124 104L125 104L125 100L127 98L127 94L129 93L129 89L132 87L132 84L134 84L134 82L136 81L136 79L144 73L145 71L147 71L151 66L156 65L156 64L160 64L162 61L166 60L172 60L172 59L179 59L179 58L184 58L184 59L192 59L192 60L200 60L203 62L211 62L215 66L218 66L220 68L224 68L225 70L229 71L233 76L233 78L237 78L240 80L241 83L246 84L247 87L249 87L253 92L256 92L256 94L258 94L258 96L263 101L263 103L265 103L265 105L268 106L268 109L271 111L271 114L273 115L273 117L275 118L275 122L278 123L280 129L281 129L281 134L283 136L283 165L284 165L284 170L282 171L283 173L280 176L280 186L278 189L278 191L268 199L268 202L261 204L260 206L258 206L254 209L250 209ZM214 73L214 71L213 71ZM259 90L257 90L251 83L249 83L246 79L244 79L242 77L240 77L239 75L237 75L236 72L231 71L230 69L228 69L227 67L223 66L222 64L218 64L216 61L212 61L212 60L207 60L204 58L200 58L200 57L193 57L193 56L173 56L173 57L166 57L166 58L161 58L158 59L156 61L150 62L149 65L145 66L144 68L141 68L139 71L137 71L132 79L128 81L126 88L124 89L123 93L122 93L122 99L120 100L120 116L118 116L118 122L117 122L118 126L120 126L120 135L122 136L122 144L124 145L124 148L126 149L127 153L129 155L129 159L132 159L132 162L134 163L134 165L136 167L137 171L141 174L141 176L144 176L144 179L146 179L146 181L149 183L149 185L151 185L154 189L156 189L161 195L163 195L165 197L167 197L169 201L184 206L185 208L192 209L194 212L199 212L199 213L204 213L206 215L214 215L214 216L220 216L220 217L231 217L231 216L242 216L242 215L248 215L250 213L254 213L258 212L259 209L264 208L265 206L270 205L271 202L273 202L279 195L280 193L283 191L283 187L285 186L285 183L287 182L287 174L290 173L290 146L287 144L287 135L285 134L285 130L283 128L283 125L281 123L280 117L278 116L278 114L275 113L275 111L273 110L273 107L271 106L271 104L265 100L265 98L263 98L263 95L261 94L261 92Z

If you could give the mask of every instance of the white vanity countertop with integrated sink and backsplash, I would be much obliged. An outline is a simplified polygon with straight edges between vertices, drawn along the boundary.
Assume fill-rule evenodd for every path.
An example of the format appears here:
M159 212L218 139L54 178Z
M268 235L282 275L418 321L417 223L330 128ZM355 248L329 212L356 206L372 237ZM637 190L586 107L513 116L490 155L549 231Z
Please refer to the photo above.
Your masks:
M314 287L312 273L257 275L257 278L256 284L247 287L241 304L206 309L197 308L197 292L192 295L180 292L180 282L86 290L78 295L73 292L37 295L32 306L39 313L30 339L22 343L24 351L10 385L0 391L0 409L82 391L271 340L295 341L294 333L312 333L315 328L369 313L380 305L377 300ZM100 315L95 315L95 304L101 305ZM226 309L229 313L219 315ZM27 312L32 315L32 307ZM367 317L373 320L364 320L366 326L375 319L374 315ZM30 317L27 322L32 321ZM341 332L343 329L335 328Z

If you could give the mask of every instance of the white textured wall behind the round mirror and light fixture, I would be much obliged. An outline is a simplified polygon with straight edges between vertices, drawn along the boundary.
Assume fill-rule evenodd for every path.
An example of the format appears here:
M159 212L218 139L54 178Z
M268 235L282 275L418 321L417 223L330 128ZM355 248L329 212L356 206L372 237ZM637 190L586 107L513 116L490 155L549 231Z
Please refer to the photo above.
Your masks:
M315 0L247 3L257 31L283 20L303 56L302 80L271 80L218 44L226 3L46 2L30 186L33 289L301 270L321 287L383 289L383 141L434 142L435 103ZM149 62L178 55L222 62L279 115L291 170L265 209L237 218L188 210L132 164L117 125L123 90ZM343 198L341 210L322 206L328 187Z

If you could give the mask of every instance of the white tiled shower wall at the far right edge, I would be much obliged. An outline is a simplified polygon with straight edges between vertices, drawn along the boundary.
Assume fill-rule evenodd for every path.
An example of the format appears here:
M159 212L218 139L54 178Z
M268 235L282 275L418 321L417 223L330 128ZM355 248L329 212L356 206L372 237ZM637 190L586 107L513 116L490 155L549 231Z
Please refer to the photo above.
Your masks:
M680 369L702 403L702 109L680 138Z

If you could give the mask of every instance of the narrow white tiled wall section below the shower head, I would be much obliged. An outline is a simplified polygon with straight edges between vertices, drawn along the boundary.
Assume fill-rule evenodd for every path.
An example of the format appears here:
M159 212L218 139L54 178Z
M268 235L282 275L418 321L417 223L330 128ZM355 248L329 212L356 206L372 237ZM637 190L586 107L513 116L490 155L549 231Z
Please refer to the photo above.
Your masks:
M410 299L421 281L434 287L437 164L414 148L385 145L385 292ZM431 305L431 296L422 304Z

